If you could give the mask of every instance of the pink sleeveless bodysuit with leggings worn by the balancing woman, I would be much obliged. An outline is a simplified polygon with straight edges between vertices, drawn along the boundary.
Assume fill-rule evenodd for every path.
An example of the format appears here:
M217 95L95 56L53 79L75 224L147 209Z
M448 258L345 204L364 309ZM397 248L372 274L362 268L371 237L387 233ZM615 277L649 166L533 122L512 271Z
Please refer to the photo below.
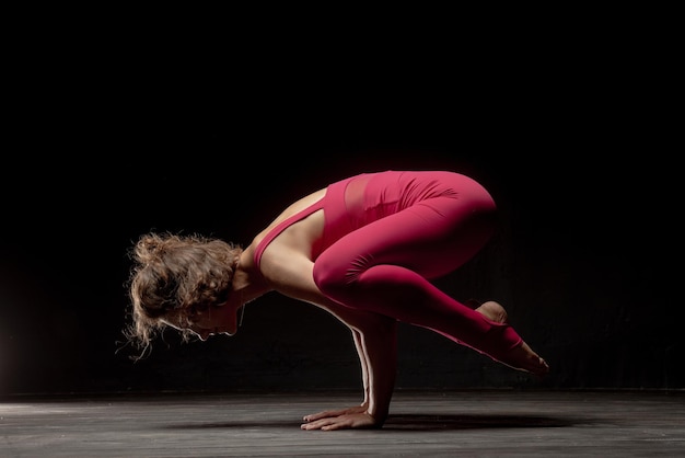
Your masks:
M256 265L285 228L321 208L314 282L326 297L431 329L495 359L522 342L508 324L430 283L472 259L494 232L497 207L476 181L443 171L386 171L333 183L320 202L263 239Z

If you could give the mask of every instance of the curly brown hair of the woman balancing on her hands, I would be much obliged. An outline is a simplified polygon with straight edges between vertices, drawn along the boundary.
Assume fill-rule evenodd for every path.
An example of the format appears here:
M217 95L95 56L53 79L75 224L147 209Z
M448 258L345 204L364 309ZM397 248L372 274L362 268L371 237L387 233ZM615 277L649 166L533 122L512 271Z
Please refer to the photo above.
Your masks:
M129 278L132 323L125 330L129 341L147 348L154 334L167 324L184 339L190 332L188 316L227 301L242 248L199 234L150 232L131 250Z

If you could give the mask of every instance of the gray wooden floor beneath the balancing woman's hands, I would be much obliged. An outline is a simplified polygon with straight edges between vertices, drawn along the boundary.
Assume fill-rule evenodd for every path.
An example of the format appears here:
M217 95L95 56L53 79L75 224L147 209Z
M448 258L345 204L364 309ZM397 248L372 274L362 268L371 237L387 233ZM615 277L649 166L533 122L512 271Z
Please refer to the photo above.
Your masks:
M685 457L682 392L403 392L382 430L304 432L352 393L0 402L1 457Z

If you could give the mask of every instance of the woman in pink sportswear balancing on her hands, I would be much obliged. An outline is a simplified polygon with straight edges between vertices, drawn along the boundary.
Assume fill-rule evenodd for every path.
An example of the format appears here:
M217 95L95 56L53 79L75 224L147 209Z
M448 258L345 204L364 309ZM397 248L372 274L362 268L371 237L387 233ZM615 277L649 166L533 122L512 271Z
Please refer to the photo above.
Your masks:
M499 304L474 310L430 283L485 245L495 214L489 193L465 175L385 171L302 197L245 249L199 236L142 236L133 252L129 336L146 347L165 325L186 337L233 335L239 309L268 291L329 311L351 330L364 400L306 415L303 430L383 425L395 383L398 321L543 376L547 364L507 323Z

